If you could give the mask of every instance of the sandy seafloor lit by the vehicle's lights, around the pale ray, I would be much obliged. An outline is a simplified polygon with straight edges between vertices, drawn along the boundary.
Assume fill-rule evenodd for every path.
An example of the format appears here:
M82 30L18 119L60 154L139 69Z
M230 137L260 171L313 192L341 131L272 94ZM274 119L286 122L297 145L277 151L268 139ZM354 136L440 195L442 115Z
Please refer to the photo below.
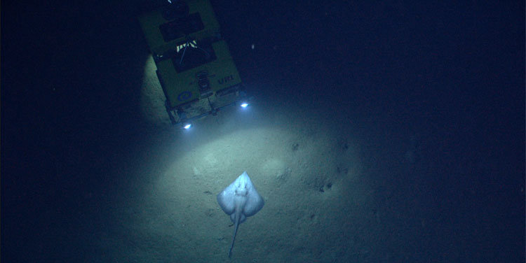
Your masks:
M419 250L414 236L431 234L429 215L412 200L417 183L405 175L425 147L414 143L416 132L371 124L364 134L362 120L264 92L245 110L227 108L184 131L168 124L159 83L145 68L142 114L156 135L116 164L114 176L127 183L102 197L100 222L86 222L95 224L86 262L229 262L234 226L216 194L243 171L265 205L240 225L231 262L396 262L437 253ZM393 183L401 173L404 183Z

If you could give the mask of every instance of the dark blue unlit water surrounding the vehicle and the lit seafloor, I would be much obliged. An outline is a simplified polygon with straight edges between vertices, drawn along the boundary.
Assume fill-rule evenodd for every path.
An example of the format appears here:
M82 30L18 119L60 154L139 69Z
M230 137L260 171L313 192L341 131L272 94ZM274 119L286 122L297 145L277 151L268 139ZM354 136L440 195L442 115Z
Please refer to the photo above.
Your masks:
M404 138L415 169L367 172L431 222L392 229L429 250L386 248L410 254L387 262L525 262L523 1L212 3L253 94L355 123L369 164ZM1 3L3 262L100 253L86 236L113 220L126 179L112 172L155 141L139 6Z

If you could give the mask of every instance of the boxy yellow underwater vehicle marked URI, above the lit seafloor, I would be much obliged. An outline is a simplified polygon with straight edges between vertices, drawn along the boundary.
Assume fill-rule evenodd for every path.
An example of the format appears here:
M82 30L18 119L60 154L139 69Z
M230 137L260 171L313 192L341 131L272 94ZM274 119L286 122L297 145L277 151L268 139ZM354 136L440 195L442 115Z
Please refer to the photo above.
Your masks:
M215 115L245 99L208 0L172 0L139 21L174 125Z

